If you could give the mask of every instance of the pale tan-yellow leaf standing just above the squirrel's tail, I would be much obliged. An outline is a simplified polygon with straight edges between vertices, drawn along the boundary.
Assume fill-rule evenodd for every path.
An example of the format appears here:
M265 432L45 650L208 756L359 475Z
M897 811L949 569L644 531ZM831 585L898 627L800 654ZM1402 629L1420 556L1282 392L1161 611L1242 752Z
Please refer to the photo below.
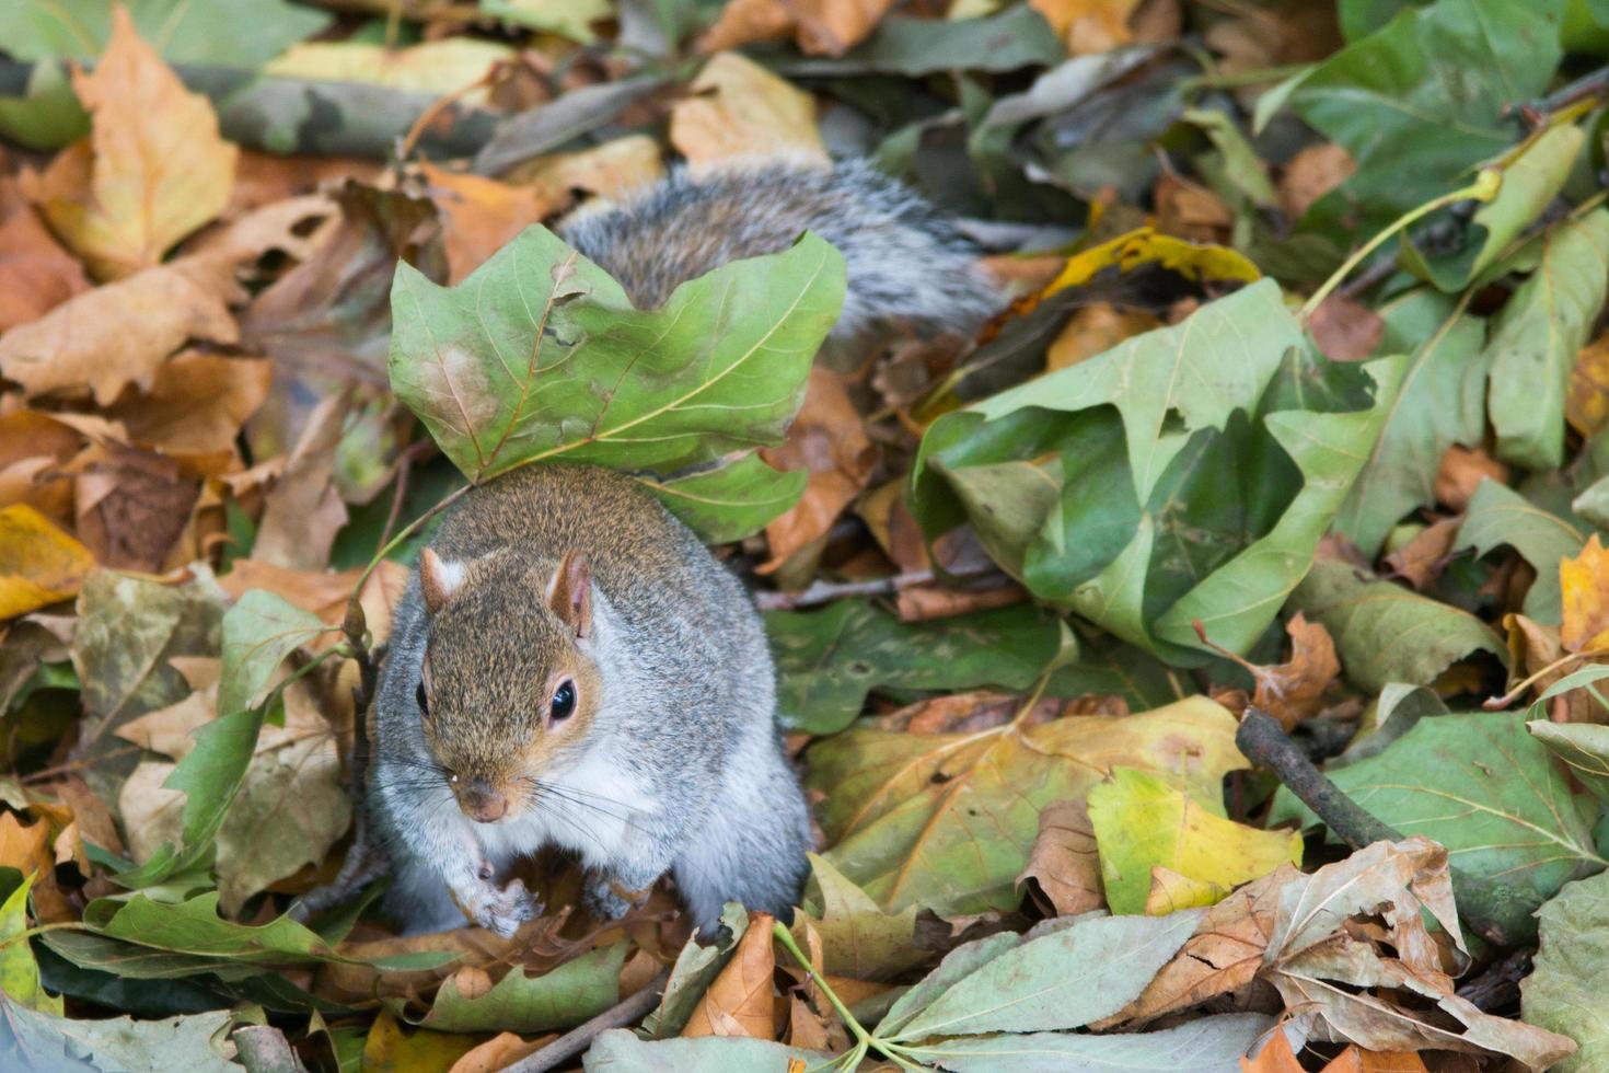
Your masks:
M671 108L671 145L693 169L767 153L830 166L816 129L816 101L753 60L722 51L705 64L689 90Z

